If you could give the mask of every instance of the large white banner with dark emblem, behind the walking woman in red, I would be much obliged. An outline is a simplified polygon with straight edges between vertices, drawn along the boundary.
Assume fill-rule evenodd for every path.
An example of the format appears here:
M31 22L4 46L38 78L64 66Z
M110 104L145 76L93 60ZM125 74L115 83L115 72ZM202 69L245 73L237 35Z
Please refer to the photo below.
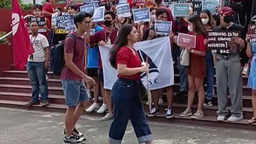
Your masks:
M111 67L109 51L112 45L99 46L102 60L104 89L111 90L117 79L117 70ZM157 90L174 84L174 71L169 37L156 38L134 44L141 61L149 63L149 90ZM146 73L142 73L141 81L146 86Z

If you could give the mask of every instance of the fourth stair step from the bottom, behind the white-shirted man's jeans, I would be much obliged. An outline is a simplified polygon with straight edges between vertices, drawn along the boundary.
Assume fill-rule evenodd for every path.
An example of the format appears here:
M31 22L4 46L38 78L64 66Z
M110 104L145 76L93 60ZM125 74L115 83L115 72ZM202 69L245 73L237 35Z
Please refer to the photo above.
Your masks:
M0 84L30 85L29 78L26 77L0 77ZM47 80L48 86L61 86L61 80L50 78Z

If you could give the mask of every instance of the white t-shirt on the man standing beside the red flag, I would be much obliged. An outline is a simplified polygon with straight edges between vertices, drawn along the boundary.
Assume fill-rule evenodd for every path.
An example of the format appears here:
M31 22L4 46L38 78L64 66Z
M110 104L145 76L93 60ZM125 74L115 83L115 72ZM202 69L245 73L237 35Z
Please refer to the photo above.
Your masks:
M35 52L28 56L28 61L44 62L45 61L44 48L49 47L47 38L42 34L38 34L36 37L32 37L32 35L30 35L29 39L30 39L30 43L33 44L33 48Z

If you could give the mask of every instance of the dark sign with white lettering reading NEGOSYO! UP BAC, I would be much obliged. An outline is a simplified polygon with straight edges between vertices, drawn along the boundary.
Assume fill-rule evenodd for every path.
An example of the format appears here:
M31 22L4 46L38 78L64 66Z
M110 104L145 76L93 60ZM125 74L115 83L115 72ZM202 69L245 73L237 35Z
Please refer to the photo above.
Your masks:
M210 40L206 50L218 54L236 53L239 45L235 37L241 37L241 31L206 31L206 38Z

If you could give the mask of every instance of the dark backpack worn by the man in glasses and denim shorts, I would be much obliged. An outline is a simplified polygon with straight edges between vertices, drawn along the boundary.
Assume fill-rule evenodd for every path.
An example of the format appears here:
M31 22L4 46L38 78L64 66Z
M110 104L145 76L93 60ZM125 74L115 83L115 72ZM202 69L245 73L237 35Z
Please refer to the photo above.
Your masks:
M68 34L67 37L72 37L74 39L74 43L76 45L76 37L73 34ZM60 44L55 45L52 47L50 52L50 68L53 72L53 75L60 76L62 68L65 66L64 61L64 44L63 41Z

